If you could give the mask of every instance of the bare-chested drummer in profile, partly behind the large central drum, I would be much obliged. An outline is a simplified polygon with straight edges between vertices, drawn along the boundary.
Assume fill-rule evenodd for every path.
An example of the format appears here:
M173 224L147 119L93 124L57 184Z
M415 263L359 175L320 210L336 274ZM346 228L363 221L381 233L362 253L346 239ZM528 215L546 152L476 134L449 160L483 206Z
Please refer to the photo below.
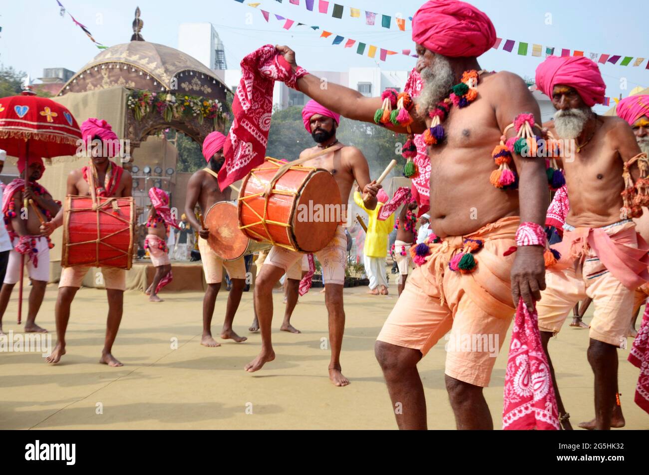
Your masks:
M232 329L234 315L239 308L243 287L245 287L246 273L243 257L236 261L224 261L219 258L207 243L210 231L199 223L194 213L194 208L197 203L204 216L213 204L219 201L230 200L230 188L226 188L221 192L217 178L217 173L225 161L225 157L223 156L223 143L225 143L225 136L221 132L212 132L205 138L202 153L208 165L191 175L190 181L187 184L187 197L185 199L185 214L187 215L187 219L190 221L192 228L199 230L199 250L201 252L203 272L205 273L205 282L207 282L207 290L203 297L203 333L201 345L211 348L221 346L212 337L212 315L214 315L216 296L219 294L219 289L221 289L223 266L225 266L230 280L232 280L232 289L230 289L228 295L225 319L223 321L223 328L221 328L221 338L232 339L237 343L247 340L247 337L239 336Z

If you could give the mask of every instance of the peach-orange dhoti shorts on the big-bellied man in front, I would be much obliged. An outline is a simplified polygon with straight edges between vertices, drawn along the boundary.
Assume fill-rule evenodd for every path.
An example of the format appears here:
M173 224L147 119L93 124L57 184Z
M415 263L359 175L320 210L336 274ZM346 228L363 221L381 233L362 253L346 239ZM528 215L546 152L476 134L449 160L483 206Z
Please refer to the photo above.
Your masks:
M426 356L448 332L445 373L480 387L489 385L496 356L515 313L509 272L520 218L499 219L467 234L429 244L427 262L406 281L378 341L413 348ZM482 241L474 252L471 273L452 271L449 260L465 247L465 239Z

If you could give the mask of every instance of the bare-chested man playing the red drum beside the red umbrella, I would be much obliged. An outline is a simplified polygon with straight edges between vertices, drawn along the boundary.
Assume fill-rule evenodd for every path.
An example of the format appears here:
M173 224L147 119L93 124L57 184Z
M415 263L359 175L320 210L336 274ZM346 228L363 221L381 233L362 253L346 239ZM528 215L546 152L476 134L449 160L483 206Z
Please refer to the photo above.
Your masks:
M109 160L109 156L119 151L119 143L115 132L106 121L88 119L81 125L81 136L91 149L92 166L76 169L67 176L67 195L90 196L89 176L92 173L97 196L125 198L131 196L133 179L128 171ZM55 219L41 226L41 233L49 236L63 225L64 209L61 208ZM58 284L56 298L56 346L47 358L48 363L58 363L66 354L66 329L70 318L70 307L81 282L88 272L88 266L64 267ZM112 347L119 331L119 323L123 313L124 291L126 289L126 271L117 267L102 267L106 297L108 298L108 320L106 321L106 339L101 352L99 363L108 366L122 366L122 363L112 355Z

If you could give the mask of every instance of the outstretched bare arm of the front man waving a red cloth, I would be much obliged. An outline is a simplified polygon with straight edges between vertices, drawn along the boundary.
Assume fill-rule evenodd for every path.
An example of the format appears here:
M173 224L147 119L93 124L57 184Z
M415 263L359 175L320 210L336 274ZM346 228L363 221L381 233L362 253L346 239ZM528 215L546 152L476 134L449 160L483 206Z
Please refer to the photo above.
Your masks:
M295 51L288 46L276 46L276 48L284 55L284 59L293 70L297 69ZM374 123L374 113L381 108L383 102L380 97L365 97L358 91L333 82L324 82L323 79L312 74L297 80L297 88L324 107L356 121ZM408 133L405 127L389 124L387 128L401 134ZM425 128L426 124L419 120L415 120L410 125L411 131L416 134L423 133Z

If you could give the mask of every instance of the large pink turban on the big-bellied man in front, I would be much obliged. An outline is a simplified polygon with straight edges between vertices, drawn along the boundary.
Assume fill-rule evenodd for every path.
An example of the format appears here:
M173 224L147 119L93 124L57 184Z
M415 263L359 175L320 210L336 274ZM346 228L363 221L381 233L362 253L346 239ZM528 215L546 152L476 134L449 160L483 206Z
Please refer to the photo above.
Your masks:
M440 55L478 57L496 42L496 29L469 3L430 0L412 19L412 40Z

